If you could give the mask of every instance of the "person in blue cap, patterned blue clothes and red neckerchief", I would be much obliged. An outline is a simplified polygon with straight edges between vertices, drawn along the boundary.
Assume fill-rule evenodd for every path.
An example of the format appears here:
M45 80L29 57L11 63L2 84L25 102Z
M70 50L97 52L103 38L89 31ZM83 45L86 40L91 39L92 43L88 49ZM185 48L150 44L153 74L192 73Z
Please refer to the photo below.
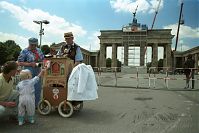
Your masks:
M44 54L41 49L37 48L38 39L29 38L29 45L27 48L21 51L18 62L20 66L24 66L24 69L28 69L32 73L32 77L37 76L41 68L37 66L38 63L42 62L44 59ZM41 81L35 84L35 106L37 107L38 102L40 101L41 95Z

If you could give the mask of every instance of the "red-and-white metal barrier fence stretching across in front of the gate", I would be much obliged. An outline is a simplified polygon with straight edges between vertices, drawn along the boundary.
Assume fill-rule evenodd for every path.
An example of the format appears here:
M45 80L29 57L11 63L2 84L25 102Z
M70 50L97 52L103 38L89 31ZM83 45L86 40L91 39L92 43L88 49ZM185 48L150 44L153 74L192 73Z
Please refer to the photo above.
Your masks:
M169 89L172 87L181 88L186 84L186 77L183 74L184 68L171 69L168 67L150 67L146 74L141 73L141 69L146 69L146 67L134 67L134 69L136 69L136 73L118 72L118 70L121 70L121 68L118 67L94 67L93 69L96 72L98 85L102 86L123 86L121 84L125 83L125 86L127 87L161 88L161 83L163 83L163 88ZM158 69L162 69L160 71L161 73L158 73ZM190 68L190 70L197 71L199 69ZM146 83L147 81L148 83ZM197 74L194 79L190 79L190 83L192 81L195 82L195 88L199 89L199 77ZM109 84L106 84L106 82L109 82ZM157 85L158 83L161 85Z

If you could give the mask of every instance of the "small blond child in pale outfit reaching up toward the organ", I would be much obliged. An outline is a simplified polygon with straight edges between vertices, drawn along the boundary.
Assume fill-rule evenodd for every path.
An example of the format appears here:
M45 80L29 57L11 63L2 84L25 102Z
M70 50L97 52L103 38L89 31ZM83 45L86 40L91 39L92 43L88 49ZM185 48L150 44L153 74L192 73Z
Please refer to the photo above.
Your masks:
M28 69L20 72L21 81L16 86L19 91L19 104L18 104L18 121L19 125L24 124L25 112L27 112L28 120L34 123L35 115L35 88L34 85L39 81L39 77L43 74L41 70L38 76L32 78L32 74Z

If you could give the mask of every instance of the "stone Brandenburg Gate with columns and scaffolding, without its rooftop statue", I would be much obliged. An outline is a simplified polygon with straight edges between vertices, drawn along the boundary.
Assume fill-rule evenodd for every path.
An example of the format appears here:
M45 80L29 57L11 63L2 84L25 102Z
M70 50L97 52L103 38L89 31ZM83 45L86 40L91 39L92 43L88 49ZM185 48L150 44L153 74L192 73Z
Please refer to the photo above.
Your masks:
M124 49L124 66L129 65L129 48L139 47L140 66L145 65L146 49L152 48L151 65L158 67L158 47L164 48L163 67L171 67L171 44L174 35L171 29L153 29L153 30L101 30L100 40L100 67L106 67L107 47L112 47L112 67L117 67L118 47Z

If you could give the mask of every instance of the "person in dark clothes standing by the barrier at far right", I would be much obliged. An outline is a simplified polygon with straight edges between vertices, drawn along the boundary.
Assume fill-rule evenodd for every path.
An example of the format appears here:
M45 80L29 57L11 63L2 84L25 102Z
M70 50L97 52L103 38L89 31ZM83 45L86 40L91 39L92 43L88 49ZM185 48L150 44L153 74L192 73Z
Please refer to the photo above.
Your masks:
M192 55L189 54L187 60L184 63L184 73L186 75L185 89L189 88L189 81L192 79L192 89L194 89L194 65L195 61L192 59Z

